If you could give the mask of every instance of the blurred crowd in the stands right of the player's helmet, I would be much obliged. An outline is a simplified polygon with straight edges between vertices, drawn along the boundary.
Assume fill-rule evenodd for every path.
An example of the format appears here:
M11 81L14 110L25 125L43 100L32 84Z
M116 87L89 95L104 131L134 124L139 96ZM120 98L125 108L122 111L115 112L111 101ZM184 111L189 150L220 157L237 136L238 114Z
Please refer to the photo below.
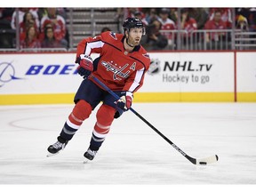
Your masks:
M241 31L256 32L256 8L236 8L235 28ZM168 44L175 44L173 31L180 30L181 40L191 42L196 40L198 29L222 30L232 29L231 8L181 8L178 20L177 8L119 8L118 17L137 17L146 26L147 35L143 37L142 44L148 50L170 49ZM179 22L180 21L180 22ZM178 25L180 23L180 26ZM216 44L220 40L229 40L230 36L224 32L207 33L207 44Z

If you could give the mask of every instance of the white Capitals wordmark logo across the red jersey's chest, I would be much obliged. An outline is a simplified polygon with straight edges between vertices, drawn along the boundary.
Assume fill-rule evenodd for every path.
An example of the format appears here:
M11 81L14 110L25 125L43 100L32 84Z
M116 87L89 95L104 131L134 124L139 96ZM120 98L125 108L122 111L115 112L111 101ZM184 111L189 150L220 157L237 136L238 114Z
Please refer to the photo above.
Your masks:
M124 73L124 69L127 68L129 66L128 63L126 63L122 68L121 67L117 67L117 65L114 65L112 63L109 63L109 62L106 62L104 60L101 61L101 65L104 66L105 68L107 68L107 71L111 71L113 72L113 79L114 80L122 80L122 78L118 77L118 76L121 76L123 78L127 78L130 74L130 70L127 70L125 73Z

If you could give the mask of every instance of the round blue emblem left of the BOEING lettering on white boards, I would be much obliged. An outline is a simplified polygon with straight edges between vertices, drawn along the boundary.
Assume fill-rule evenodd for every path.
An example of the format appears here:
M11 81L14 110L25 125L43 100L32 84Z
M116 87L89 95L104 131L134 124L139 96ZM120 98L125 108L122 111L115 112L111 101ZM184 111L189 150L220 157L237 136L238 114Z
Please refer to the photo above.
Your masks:
M13 68L12 63L0 62L0 87L17 79L22 78L15 76L15 68Z

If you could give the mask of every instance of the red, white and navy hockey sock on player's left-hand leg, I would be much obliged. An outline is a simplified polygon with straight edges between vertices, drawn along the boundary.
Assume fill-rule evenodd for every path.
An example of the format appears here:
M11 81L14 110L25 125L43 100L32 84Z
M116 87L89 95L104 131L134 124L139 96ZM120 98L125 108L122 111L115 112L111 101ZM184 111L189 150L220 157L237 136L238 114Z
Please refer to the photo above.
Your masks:
M83 124L84 120L92 113L91 105L85 100L79 100L75 108L68 116L68 120L64 124L60 137L64 140L71 140L77 130ZM60 140L59 140L60 141Z

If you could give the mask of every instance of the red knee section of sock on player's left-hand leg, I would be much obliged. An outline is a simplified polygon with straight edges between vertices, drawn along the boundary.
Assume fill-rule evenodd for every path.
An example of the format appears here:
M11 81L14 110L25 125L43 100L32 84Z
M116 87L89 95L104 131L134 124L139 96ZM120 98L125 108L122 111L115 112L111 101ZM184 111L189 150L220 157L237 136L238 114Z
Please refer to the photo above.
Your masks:
M84 121L92 113L92 106L85 100L79 100L73 108L72 114L77 121Z

